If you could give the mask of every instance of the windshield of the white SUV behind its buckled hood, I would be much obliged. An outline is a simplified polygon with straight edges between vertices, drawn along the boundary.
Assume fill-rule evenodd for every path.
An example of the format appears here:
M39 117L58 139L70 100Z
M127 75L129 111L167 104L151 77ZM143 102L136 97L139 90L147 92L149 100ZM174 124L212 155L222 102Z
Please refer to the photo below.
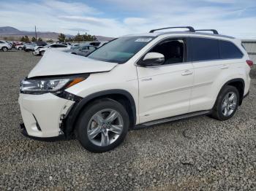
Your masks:
M152 36L127 36L115 39L92 52L88 58L94 60L125 63L151 42Z

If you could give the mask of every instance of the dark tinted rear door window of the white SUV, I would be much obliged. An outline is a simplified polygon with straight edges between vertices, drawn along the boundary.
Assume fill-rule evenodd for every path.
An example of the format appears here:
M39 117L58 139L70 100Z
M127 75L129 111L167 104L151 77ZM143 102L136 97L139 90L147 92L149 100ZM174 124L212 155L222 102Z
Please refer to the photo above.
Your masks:
M192 60L210 61L219 59L219 42L215 39L192 38Z

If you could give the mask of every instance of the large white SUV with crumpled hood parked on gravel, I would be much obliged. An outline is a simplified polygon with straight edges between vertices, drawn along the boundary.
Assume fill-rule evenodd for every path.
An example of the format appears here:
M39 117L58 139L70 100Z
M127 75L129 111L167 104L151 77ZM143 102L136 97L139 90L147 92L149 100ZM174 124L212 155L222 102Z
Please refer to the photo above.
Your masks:
M45 52L20 83L23 134L105 152L130 128L200 114L230 119L249 93L252 61L240 40L187 28L122 36L87 58Z

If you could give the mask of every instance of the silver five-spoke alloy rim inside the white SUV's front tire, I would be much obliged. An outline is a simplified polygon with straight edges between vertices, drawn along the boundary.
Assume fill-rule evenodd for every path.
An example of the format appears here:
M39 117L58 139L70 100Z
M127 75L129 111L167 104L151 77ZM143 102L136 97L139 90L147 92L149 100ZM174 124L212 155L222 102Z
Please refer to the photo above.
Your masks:
M94 114L87 126L89 140L100 147L113 144L121 135L124 120L114 109L102 109Z

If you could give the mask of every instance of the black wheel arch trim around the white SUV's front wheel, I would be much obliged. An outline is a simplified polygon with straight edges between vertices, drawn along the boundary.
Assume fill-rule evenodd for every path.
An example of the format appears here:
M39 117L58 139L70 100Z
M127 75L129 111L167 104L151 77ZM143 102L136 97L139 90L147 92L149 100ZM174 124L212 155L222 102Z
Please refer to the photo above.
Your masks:
M127 90L103 90L97 93L92 93L86 96L81 101L76 102L72 109L67 114L62 126L65 136L70 139L74 133L76 122L80 116L80 112L86 108L90 103L100 98L111 98L122 104L129 114L131 124L129 128L132 128L137 120L136 117L136 105L132 95ZM128 101L128 102L127 102Z

